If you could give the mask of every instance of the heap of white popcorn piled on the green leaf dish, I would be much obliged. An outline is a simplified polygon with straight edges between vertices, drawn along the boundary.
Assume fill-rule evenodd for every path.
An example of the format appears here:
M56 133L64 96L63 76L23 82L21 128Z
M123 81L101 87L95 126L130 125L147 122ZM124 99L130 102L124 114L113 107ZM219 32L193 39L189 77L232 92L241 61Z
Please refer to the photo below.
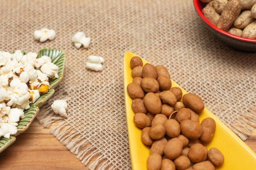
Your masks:
M18 121L25 117L23 110L49 91L49 77L58 78L58 70L46 55L38 59L36 53L0 51L0 137L17 133Z

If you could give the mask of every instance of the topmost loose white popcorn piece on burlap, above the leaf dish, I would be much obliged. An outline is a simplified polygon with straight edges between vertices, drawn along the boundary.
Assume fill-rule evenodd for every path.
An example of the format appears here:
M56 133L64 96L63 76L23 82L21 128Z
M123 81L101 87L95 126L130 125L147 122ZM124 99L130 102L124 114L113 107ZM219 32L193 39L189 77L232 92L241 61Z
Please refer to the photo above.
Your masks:
M55 38L55 31L53 29L42 28L40 30L34 31L34 37L40 42L45 42L46 40L53 40Z

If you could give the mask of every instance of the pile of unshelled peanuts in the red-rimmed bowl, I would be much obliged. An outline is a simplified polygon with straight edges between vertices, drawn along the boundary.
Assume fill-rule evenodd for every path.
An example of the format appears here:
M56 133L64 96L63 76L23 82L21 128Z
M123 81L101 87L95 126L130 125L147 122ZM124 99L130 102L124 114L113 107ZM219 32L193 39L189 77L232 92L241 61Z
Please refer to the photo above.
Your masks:
M204 16L231 34L256 39L256 0L201 0Z

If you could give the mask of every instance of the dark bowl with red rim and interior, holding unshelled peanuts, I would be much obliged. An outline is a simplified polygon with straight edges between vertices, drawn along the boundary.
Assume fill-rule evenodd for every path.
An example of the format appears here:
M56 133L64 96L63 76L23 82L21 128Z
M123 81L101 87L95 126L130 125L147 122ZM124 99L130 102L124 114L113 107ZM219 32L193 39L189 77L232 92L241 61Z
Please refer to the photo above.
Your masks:
M207 18L205 18L202 13L202 9L205 7L206 3L201 2L200 0L193 0L195 11L197 11L200 18L206 23L210 28L211 32L216 35L220 40L225 44L232 46L236 49L246 50L246 51L256 51L256 39L243 38L222 29L219 29L217 26L213 25Z

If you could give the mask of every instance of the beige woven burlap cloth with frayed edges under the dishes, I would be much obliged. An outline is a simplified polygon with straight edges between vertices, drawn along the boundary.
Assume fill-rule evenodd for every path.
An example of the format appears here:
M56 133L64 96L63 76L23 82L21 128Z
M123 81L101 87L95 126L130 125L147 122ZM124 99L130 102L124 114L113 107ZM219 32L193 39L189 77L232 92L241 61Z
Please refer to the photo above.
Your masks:
M241 139L256 125L256 56L217 40L192 0L1 0L0 50L66 52L65 76L38 120L82 163L94 170L131 169L123 87L126 51L168 68L186 91L202 97ZM36 29L56 31L53 41L34 40ZM88 49L71 42L77 31ZM104 57L104 69L85 69L88 55ZM130 74L130 73L127 73ZM68 117L54 115L54 99L67 99Z

